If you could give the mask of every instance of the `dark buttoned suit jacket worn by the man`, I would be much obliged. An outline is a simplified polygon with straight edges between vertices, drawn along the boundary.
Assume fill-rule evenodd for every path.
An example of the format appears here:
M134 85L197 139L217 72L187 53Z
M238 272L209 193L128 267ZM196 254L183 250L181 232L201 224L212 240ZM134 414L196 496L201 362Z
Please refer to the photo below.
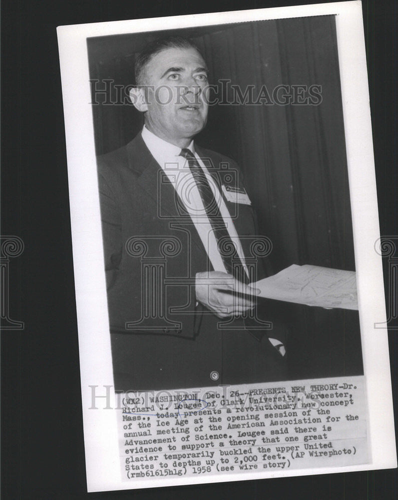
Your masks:
M221 184L242 185L232 159L200 147L196 152ZM116 389L284 379L285 359L267 334L281 338L286 327L272 308L273 329L249 333L242 319L222 329L219 318L197 306L195 274L212 267L141 134L97 162ZM225 201L247 256L256 235L253 209Z

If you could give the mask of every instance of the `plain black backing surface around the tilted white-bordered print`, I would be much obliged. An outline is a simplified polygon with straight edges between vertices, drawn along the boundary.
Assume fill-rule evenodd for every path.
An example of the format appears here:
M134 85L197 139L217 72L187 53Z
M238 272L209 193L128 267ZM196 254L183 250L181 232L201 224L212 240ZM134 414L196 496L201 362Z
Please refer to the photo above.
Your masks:
M2 495L7 500L395 498L395 470L86 493L66 152L56 26L288 5L291 2L3 1L1 234L10 316L1 332ZM315 3L306 1L304 3ZM394 2L363 3L382 235L397 234ZM384 259L385 271L388 262ZM386 290L388 275L385 272ZM377 331L375 331L377 334ZM390 332L395 400L395 332Z

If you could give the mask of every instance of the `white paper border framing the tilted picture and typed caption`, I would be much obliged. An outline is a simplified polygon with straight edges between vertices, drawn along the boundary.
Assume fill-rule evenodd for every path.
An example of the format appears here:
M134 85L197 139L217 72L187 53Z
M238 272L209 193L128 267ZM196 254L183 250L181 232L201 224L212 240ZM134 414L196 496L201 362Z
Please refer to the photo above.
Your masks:
M110 335L88 70L87 37L231 22L336 14L337 41L350 182L361 338L368 399L370 462L346 467L122 481L116 412L90 409L92 387L113 387ZM362 4L347 1L232 12L78 24L57 28L67 145L70 217L79 333L83 428L88 491L221 482L397 466L382 257L369 104ZM102 391L102 392L101 392ZM109 391L110 406L116 407ZM101 399L97 398L97 402ZM100 478L100 486L99 480Z

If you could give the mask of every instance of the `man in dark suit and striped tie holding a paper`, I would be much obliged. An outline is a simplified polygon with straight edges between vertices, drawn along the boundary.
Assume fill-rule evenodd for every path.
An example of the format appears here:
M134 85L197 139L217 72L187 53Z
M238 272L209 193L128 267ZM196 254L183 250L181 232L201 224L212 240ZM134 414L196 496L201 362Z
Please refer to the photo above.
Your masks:
M264 271L252 265L240 169L193 141L207 121L207 72L184 38L148 45L130 92L142 132L98 158L117 390L286 378L287 328L267 302L256 319L248 284Z

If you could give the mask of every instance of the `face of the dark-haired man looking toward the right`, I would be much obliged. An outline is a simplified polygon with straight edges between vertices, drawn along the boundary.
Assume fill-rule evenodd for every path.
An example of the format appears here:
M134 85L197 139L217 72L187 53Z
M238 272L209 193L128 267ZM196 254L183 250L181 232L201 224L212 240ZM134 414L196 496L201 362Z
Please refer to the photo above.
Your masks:
M205 61L194 48L167 48L145 67L146 126L180 147L188 145L207 120Z

